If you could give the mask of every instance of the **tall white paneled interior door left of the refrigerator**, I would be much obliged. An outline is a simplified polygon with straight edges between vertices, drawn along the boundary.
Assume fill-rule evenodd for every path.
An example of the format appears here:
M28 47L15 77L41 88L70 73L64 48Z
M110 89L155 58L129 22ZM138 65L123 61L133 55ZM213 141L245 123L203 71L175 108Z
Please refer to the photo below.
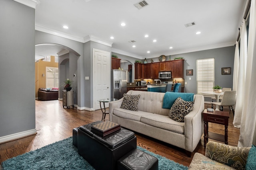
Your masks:
M100 109L100 99L110 98L110 53L93 49L94 52L94 108ZM108 107L108 103L105 103ZM103 104L102 104L103 107Z

